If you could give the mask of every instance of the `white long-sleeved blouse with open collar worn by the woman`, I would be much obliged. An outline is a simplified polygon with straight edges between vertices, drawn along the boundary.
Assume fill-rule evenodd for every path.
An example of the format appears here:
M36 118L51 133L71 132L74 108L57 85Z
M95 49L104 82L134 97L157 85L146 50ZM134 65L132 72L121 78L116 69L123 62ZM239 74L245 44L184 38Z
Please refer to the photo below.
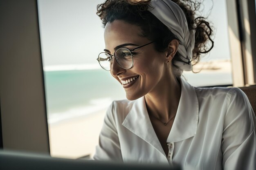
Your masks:
M141 97L111 104L93 159L178 164L184 170L256 170L256 118L245 93L180 82L167 157Z

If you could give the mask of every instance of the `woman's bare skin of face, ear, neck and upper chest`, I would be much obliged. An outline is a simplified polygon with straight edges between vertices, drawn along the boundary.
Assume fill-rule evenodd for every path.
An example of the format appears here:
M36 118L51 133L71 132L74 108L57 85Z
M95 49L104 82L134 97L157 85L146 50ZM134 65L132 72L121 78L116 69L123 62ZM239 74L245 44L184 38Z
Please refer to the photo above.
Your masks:
M105 51L113 54L116 47L120 47L122 44L134 44L124 46L134 49L151 42L148 38L141 37L140 33L139 26L125 21L108 22L104 30ZM149 44L134 51L136 54L132 68L128 70L121 68L114 59L110 70L111 75L121 85L121 80L139 76L131 86L123 85L126 97L129 100L135 100L145 96L150 121L166 156L168 154L166 139L174 120L171 118L176 115L181 94L180 83L172 71L171 64L178 45L177 40L172 40L167 51L159 52L155 50L153 43ZM164 126L163 122L170 119L168 126Z

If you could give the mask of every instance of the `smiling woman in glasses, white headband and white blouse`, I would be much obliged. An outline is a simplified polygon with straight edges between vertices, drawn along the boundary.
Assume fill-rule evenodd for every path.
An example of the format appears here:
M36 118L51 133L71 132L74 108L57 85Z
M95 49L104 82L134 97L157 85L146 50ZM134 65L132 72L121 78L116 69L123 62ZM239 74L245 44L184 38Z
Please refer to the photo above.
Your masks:
M256 169L256 119L246 95L181 78L209 52L207 41L213 45L209 23L189 3L106 0L97 14L106 45L98 61L128 100L108 108L95 160Z

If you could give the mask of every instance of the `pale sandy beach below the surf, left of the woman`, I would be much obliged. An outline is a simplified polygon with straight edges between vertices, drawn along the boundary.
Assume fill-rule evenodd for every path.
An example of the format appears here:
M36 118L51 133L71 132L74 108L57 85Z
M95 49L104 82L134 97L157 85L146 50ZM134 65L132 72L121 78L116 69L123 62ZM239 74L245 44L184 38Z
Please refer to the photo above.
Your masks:
M106 111L49 124L52 157L76 159L94 155Z

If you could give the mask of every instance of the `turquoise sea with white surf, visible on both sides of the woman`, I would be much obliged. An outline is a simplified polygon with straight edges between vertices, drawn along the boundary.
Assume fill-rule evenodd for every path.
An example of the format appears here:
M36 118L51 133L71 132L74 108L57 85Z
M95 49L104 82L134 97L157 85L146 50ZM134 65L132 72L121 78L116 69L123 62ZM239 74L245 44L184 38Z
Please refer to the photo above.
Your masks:
M44 71L48 123L97 113L125 99L121 84L103 69ZM231 73L185 73L193 86L232 84Z

